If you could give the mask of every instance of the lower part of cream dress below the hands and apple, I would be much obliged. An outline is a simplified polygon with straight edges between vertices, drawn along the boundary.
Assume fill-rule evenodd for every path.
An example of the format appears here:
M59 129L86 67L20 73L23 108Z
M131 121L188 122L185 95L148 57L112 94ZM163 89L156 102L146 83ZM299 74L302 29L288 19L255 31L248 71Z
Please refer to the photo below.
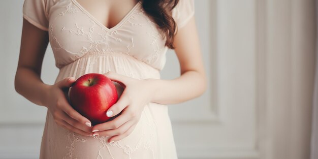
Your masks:
M168 128L170 125L169 122L162 123L168 121L165 119L168 117L166 108L164 105L147 104L133 132L113 143L107 143L109 137L87 137L63 129L49 115L45 128L48 129L47 139L44 139L49 141L47 151L53 158L153 158L160 153L160 140L165 140L163 137L160 139L164 132L158 131L167 131L157 128L156 122L160 122L160 126L168 125Z

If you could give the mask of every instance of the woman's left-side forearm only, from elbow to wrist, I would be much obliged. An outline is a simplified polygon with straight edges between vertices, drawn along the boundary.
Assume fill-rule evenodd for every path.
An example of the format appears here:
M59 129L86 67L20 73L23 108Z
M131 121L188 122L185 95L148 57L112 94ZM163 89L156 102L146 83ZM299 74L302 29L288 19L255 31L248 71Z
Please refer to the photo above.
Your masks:
M40 76L33 70L19 67L15 77L16 91L27 100L44 106L43 100L49 85L44 84Z

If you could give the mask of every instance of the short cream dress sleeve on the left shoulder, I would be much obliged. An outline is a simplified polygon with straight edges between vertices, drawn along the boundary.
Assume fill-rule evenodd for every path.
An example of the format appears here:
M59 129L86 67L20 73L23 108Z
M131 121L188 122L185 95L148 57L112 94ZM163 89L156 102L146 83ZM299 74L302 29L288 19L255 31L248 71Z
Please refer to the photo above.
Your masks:
M36 27L48 30L48 14L46 12L46 0L24 0L23 18Z

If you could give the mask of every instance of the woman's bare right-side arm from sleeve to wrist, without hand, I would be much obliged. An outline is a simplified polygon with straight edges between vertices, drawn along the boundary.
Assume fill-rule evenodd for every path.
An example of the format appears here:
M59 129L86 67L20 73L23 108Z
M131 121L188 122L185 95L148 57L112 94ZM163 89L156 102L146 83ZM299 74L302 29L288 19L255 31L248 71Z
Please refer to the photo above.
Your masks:
M173 80L151 79L154 94L151 102L181 103L200 96L207 87L195 17L178 30L174 40L181 76Z

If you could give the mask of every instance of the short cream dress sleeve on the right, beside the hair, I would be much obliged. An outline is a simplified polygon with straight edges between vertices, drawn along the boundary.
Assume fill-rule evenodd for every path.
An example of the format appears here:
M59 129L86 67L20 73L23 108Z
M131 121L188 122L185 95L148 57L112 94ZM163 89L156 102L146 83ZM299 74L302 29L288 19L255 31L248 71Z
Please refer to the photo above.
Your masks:
M194 0L180 0L172 10L172 17L178 28L183 27L195 14Z

